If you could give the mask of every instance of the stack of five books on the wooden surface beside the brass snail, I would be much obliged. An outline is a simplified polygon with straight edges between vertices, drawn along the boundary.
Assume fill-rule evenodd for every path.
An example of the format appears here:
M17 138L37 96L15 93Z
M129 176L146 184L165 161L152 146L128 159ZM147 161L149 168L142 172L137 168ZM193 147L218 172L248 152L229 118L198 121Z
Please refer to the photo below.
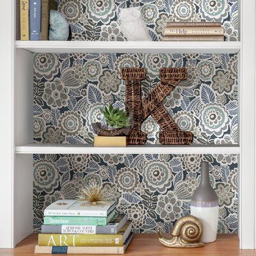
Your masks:
M131 242L132 223L116 214L115 202L92 205L58 200L44 211L35 253L124 254Z

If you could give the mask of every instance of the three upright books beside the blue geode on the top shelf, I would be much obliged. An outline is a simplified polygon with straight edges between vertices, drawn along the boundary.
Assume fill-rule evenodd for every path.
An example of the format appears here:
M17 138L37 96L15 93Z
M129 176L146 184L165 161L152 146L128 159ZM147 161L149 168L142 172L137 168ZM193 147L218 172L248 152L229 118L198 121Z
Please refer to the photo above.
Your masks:
M48 40L50 10L55 0L20 0L20 40Z

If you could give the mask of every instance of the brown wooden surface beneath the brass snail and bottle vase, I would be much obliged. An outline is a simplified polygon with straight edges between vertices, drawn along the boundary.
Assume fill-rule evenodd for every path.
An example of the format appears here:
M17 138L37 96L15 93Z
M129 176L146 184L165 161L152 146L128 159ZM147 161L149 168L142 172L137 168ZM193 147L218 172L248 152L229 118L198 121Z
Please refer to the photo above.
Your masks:
M0 249L2 256L35 256L34 248L37 235L31 234L17 244L15 249ZM47 255L47 254L36 254ZM75 254L72 254L75 255ZM81 254L80 254L81 255ZM156 234L135 234L125 255L134 256L237 256L256 255L255 250L239 250L237 235L221 234L214 243L205 244L204 248L175 249L164 247L157 241ZM105 255L106 256L106 255Z

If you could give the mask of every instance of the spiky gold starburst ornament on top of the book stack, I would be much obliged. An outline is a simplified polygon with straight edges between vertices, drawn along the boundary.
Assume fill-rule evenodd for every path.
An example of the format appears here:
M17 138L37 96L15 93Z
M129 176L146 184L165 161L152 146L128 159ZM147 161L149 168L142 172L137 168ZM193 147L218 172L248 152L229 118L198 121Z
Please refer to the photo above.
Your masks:
M101 189L97 185L83 188L78 199L86 201L81 206L104 205L108 204L109 201L106 195L104 195L104 189Z

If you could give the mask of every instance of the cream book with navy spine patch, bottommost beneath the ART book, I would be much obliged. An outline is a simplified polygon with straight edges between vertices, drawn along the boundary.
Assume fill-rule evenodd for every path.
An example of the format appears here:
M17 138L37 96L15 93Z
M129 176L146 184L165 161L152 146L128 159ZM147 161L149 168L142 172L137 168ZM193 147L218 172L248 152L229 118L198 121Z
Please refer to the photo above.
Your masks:
M133 233L129 235L123 246L39 246L35 253L67 253L67 254L124 254L132 241Z

